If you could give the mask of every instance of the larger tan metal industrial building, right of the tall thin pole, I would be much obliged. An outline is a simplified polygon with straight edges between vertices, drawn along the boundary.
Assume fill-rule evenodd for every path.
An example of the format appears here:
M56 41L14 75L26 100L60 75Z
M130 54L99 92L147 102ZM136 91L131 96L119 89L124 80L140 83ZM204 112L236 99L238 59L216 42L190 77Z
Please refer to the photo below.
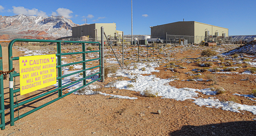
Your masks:
M165 43L176 41L183 36L189 43L200 43L201 41L213 41L224 43L228 38L228 28L213 26L196 21L179 21L158 26L151 26L152 38L161 38ZM173 36L176 35L175 39ZM172 38L170 38L172 37Z

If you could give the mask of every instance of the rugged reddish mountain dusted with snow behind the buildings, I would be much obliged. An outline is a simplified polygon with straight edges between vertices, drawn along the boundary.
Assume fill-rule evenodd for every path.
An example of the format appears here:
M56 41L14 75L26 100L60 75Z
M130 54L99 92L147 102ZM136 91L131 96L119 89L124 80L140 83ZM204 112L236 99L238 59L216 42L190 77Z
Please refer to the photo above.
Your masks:
M63 16L16 16L0 15L0 39L7 35L8 39L14 38L45 38L55 39L72 36L72 27L79 26Z

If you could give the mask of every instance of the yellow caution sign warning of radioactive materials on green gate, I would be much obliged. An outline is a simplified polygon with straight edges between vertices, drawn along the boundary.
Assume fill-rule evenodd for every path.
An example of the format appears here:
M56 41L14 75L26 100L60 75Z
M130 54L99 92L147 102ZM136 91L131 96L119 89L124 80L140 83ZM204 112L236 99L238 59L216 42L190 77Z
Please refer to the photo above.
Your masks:
M56 55L19 57L20 95L56 84Z

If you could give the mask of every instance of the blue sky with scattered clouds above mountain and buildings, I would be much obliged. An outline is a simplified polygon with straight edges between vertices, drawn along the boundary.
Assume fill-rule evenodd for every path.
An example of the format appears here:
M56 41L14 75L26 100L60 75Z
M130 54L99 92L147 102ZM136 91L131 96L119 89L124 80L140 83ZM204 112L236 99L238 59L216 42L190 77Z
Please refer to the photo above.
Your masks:
M256 35L255 0L133 0L133 34L150 35L149 26L197 21L229 28L229 35ZM116 23L131 34L130 0L1 1L0 15L64 16L74 23Z

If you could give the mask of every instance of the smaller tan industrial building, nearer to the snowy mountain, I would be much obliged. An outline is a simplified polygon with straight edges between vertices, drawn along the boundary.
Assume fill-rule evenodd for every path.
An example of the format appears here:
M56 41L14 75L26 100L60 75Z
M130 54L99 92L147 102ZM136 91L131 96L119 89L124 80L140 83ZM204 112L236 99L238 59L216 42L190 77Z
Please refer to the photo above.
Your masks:
M122 31L116 30L116 23L93 23L72 27L72 38L85 41L101 41L101 27L111 41L122 41ZM104 37L104 41L107 39Z

